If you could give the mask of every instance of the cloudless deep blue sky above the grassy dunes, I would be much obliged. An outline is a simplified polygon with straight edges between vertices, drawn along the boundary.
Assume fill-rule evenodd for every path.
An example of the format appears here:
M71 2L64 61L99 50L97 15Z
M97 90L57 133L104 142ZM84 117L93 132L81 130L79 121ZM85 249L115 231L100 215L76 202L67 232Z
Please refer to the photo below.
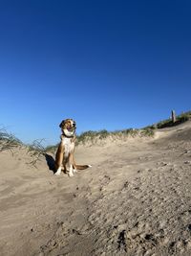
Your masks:
M190 110L189 0L0 1L0 125L24 142Z

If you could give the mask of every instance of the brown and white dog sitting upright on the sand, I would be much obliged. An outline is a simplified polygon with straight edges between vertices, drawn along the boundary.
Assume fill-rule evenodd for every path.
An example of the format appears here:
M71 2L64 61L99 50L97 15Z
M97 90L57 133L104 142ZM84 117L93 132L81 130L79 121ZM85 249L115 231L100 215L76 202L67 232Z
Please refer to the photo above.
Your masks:
M77 170L85 170L91 165L76 165L74 162L74 142L76 125L73 119L66 119L61 122L59 127L62 130L60 136L61 142L55 154L55 175L60 175L62 170L67 172L69 168L69 176L73 176Z

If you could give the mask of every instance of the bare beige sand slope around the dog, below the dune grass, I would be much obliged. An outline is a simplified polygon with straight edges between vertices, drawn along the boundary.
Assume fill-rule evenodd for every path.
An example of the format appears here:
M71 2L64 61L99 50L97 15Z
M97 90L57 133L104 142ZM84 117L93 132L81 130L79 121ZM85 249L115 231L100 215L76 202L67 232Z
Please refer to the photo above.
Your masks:
M191 255L190 122L75 155L69 178L0 153L0 255Z

